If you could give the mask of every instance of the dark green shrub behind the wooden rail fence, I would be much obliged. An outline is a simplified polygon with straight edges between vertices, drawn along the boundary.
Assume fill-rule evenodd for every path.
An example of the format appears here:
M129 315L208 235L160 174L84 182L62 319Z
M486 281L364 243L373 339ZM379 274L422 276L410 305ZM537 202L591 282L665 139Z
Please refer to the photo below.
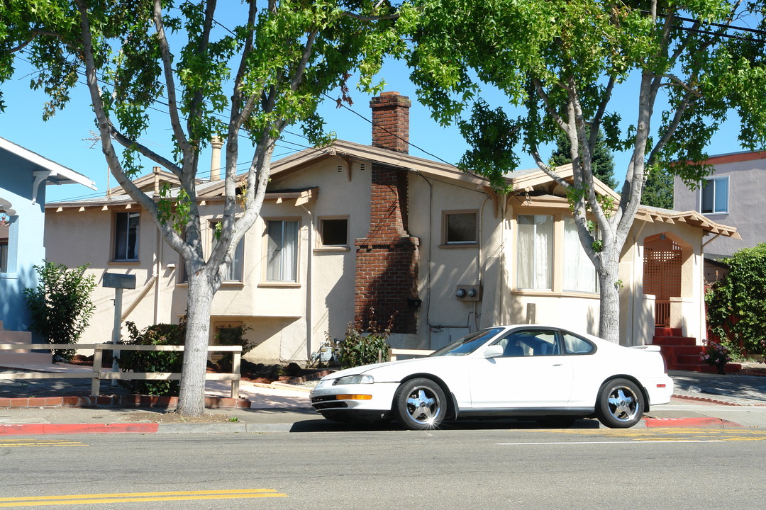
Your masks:
M186 323L154 324L139 331L136 324L126 322L132 346L182 346L186 337ZM181 372L184 360L182 351L120 351L117 365L123 372ZM140 395L178 395L179 381L126 381L119 385Z

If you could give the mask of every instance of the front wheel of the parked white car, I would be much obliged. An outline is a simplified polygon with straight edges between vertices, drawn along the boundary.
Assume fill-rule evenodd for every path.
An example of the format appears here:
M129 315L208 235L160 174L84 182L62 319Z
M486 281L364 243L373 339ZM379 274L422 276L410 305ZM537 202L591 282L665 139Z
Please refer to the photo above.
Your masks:
M447 415L447 398L436 382L411 379L399 386L394 395L394 415L410 430L436 428Z

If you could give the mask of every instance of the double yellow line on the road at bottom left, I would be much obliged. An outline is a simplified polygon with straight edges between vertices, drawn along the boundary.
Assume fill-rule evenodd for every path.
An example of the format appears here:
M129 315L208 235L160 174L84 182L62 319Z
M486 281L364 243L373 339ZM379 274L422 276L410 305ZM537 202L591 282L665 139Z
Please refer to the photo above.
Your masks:
M231 489L182 492L133 492L116 494L80 494L0 498L0 508L51 505L92 505L97 503L132 503L157 501L191 501L195 499L286 498L275 489Z

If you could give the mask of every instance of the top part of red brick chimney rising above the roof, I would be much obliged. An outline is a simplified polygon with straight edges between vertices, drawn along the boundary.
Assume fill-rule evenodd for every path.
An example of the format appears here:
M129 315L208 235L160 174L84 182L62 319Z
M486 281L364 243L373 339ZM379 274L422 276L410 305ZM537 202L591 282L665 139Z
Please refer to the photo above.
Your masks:
M372 146L407 154L410 148L410 106L407 96L385 92L372 98Z

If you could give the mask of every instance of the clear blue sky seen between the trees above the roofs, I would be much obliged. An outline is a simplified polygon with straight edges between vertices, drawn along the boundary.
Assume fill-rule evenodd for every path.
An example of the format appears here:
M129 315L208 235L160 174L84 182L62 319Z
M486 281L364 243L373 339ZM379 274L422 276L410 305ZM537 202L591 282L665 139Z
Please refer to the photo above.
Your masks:
M87 138L93 137L95 125L93 113L90 110L90 99L85 86L73 93L67 109L58 112L47 122L42 120L42 109L46 97L41 91L29 89L31 70L19 69L12 80L3 85L6 110L0 114L0 136L14 143L41 154L45 158L56 161L65 167L70 167L80 174L93 179L98 187L97 192L85 187L70 184L65 186L47 187L47 200L74 200L84 197L103 195L107 184L115 186L113 178L107 180L106 162L100 150L100 144L93 144ZM460 136L457 127L442 128L430 118L430 112L417 102L417 96L412 83L408 79L408 71L404 64L398 62L386 63L380 75L387 83L386 90L395 90L412 99L410 112L410 154L421 158L441 159L456 163L467 149L466 142ZM499 104L502 97L493 91L486 91L491 103ZM352 90L354 99L353 111L338 109L334 102L326 101L321 113L326 119L326 126L336 132L338 138L369 144L371 125L369 100L370 96ZM626 122L635 118L637 94L631 93L630 86L613 100L619 105ZM170 155L169 122L166 115L155 115L152 131L142 141L161 154ZM307 142L298 135L300 129L289 128L284 140L275 151L275 157L281 158L305 148ZM741 151L737 142L738 122L729 119L724 128L715 136L709 147L709 154L725 154ZM244 151L241 145L241 161L246 163L252 154ZM430 154L429 154L430 153ZM526 154L519 154L522 168L534 167L534 161ZM547 156L544 155L545 158ZM615 154L615 175L618 180L624 178L629 156ZM201 158L200 175L209 172L209 153ZM146 161L146 171L151 171L152 162ZM245 166L243 166L244 169Z

